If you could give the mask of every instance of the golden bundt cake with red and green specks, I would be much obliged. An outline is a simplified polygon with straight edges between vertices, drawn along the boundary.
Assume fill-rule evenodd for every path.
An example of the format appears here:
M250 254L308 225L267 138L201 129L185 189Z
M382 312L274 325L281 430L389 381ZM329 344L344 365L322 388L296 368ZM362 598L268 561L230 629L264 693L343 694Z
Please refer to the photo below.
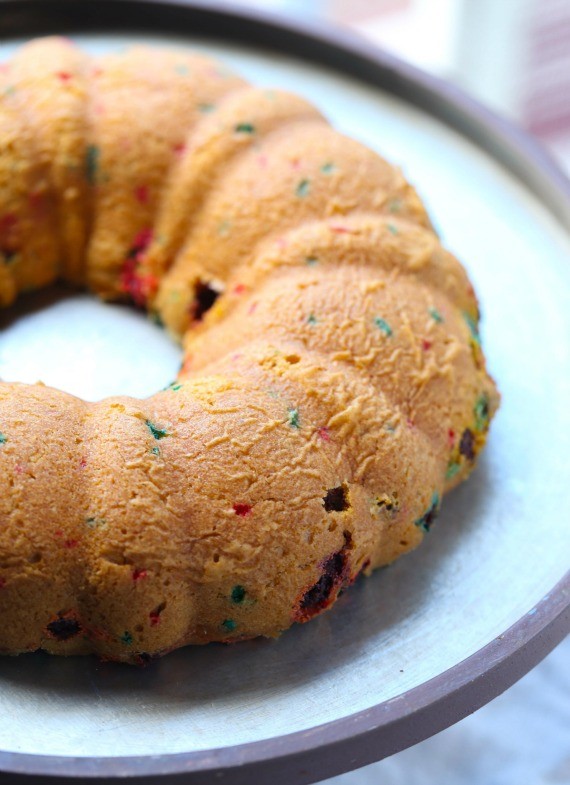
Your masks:
M400 171L185 51L39 39L0 80L2 305L62 280L184 346L147 400L0 383L0 651L277 636L418 545L498 393Z

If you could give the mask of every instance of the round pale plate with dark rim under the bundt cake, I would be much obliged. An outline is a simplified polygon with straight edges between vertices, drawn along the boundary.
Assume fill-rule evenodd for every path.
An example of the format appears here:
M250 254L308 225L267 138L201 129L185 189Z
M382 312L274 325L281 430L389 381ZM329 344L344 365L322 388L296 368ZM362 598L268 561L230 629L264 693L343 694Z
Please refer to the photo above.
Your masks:
M0 58L46 32L92 52L135 40L197 47L302 93L400 164L474 281L503 395L478 469L422 547L311 624L142 670L0 659L2 782L301 785L498 695L570 626L568 182L521 132L346 33L174 0L0 0L0 19ZM0 328L2 378L89 399L149 395L179 361L144 317L87 295L24 299Z

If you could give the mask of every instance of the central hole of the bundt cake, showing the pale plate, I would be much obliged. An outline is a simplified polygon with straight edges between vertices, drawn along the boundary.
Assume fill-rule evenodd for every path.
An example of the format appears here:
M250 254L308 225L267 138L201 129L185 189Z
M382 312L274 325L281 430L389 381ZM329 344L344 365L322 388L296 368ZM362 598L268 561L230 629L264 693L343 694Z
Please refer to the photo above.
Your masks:
M147 398L176 376L181 359L144 312L63 286L22 295L0 313L5 382L41 381L87 401Z

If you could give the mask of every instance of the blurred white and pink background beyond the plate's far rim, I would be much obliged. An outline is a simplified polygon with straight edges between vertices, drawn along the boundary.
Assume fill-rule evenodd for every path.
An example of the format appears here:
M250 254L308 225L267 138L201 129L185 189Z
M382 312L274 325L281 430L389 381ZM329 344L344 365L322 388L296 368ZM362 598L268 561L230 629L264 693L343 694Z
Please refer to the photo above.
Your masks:
M536 136L570 171L570 0L242 0L349 27Z

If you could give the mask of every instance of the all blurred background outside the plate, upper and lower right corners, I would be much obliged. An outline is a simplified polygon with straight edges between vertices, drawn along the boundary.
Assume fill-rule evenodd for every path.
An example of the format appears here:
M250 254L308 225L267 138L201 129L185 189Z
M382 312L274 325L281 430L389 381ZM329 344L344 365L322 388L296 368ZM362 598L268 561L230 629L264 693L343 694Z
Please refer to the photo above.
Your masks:
M570 0L240 4L350 28L522 126L570 173ZM570 785L569 665L567 639L471 717L323 785Z

